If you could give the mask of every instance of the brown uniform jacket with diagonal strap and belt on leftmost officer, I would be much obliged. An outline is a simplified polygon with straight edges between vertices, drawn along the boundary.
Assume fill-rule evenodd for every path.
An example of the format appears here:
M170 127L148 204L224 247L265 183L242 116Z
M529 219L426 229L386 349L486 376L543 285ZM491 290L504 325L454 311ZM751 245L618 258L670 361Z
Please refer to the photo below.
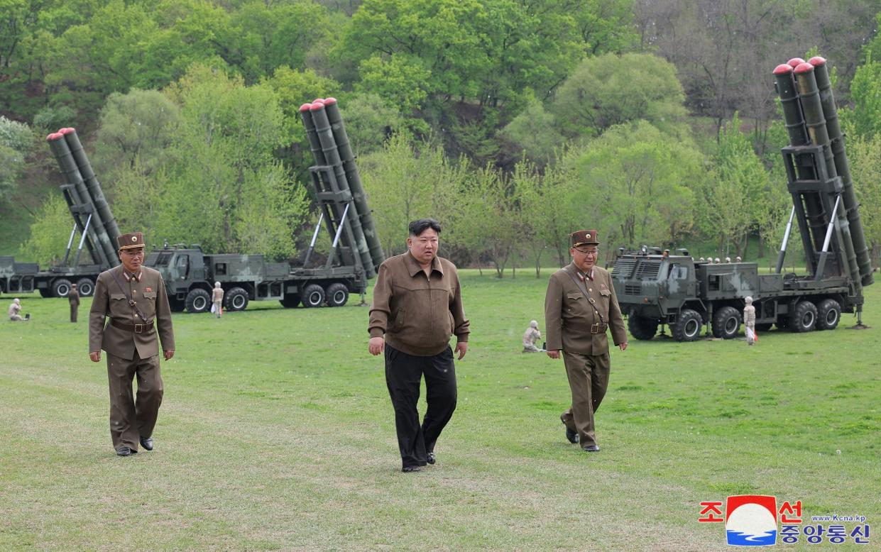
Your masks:
M147 321L153 320L152 330L135 333L115 328L109 323L104 326L105 317L124 324L143 323L111 272L122 283L123 289L130 293ZM89 312L89 351L103 349L117 357L131 359L137 349L138 357L149 358L159 354L157 337L162 341L162 350L174 350L171 309L168 308L165 283L159 272L142 266L140 281L129 279L122 265L102 272L95 284L95 296Z

